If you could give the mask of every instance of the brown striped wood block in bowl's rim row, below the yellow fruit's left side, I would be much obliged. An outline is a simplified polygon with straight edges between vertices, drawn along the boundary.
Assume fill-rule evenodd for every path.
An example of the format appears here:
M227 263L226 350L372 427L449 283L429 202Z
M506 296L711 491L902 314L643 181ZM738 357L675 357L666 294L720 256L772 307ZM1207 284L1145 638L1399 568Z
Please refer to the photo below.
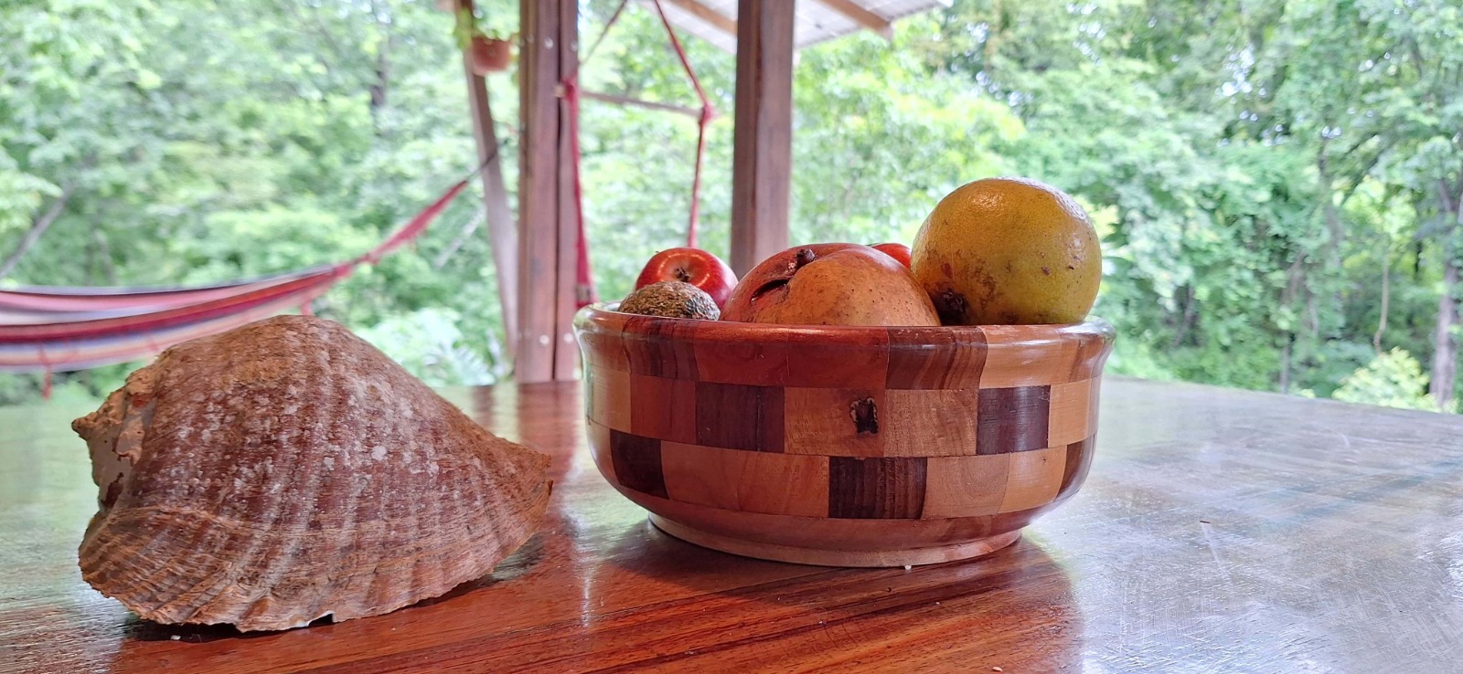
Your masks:
M888 327L890 389L977 389L986 363L986 336L979 327L930 332Z

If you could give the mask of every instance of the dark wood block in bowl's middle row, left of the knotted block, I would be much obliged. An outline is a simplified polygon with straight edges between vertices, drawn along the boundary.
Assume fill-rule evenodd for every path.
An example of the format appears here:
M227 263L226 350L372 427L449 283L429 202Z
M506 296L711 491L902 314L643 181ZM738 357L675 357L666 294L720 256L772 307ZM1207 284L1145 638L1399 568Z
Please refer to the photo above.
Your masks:
M783 389L696 383L696 444L783 450Z

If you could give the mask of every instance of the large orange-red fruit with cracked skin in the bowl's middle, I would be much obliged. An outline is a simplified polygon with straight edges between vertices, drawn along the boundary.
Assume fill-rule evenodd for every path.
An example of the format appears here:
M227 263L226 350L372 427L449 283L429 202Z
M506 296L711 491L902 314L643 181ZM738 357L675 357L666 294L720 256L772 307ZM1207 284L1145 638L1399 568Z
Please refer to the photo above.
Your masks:
M868 246L787 249L746 273L721 320L783 325L938 326L909 268Z

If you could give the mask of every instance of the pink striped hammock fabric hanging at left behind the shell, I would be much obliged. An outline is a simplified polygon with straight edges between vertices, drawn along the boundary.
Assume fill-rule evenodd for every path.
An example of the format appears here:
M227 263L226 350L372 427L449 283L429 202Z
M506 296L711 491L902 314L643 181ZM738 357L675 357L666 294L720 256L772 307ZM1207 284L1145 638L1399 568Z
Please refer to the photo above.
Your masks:
M294 307L309 311L315 298L357 266L375 263L417 238L467 189L470 178L452 186L366 254L335 265L195 288L0 291L0 371L50 376L142 360L174 344Z

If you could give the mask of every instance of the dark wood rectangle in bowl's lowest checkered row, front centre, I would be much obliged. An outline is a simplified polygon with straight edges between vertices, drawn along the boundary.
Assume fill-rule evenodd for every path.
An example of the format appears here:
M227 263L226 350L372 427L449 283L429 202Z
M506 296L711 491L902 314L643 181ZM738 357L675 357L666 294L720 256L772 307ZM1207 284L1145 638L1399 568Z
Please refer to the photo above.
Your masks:
M914 519L925 509L925 458L828 459L828 516Z

